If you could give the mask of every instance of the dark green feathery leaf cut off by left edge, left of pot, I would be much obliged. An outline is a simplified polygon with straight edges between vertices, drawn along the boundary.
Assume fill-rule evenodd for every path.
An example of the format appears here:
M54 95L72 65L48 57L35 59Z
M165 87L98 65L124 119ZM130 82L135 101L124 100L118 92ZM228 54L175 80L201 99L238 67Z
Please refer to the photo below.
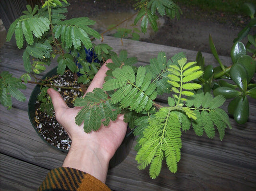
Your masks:
M18 101L25 101L24 94L19 89L26 89L21 79L12 77L7 71L0 74L0 103L7 107L12 108L12 97Z

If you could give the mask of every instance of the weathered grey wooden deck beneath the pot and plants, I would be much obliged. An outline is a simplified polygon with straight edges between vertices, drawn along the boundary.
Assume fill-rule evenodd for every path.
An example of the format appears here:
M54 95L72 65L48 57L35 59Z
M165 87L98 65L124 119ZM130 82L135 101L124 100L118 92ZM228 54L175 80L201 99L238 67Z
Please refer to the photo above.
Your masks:
M144 42L105 37L104 43L115 51L128 50L139 64L148 64L149 58L164 51L167 56L184 52L189 61L196 52ZM19 77L23 72L23 51L5 44L0 49L0 72L12 70ZM216 63L211 54L203 54L207 63ZM229 57L220 59L230 65ZM56 65L56 63L53 63ZM29 84L24 94L29 95L34 85ZM164 98L163 98L164 99ZM255 191L256 190L256 101L250 102L247 124L238 125L231 119L232 130L227 129L223 141L197 137L191 130L183 133L182 159L178 172L172 174L163 165L156 180L151 180L148 169L140 171L132 148L129 156L109 171L106 184L115 191ZM60 167L64 153L48 146L37 135L27 114L27 101L14 101L12 110L0 105L0 190L35 191L50 169Z

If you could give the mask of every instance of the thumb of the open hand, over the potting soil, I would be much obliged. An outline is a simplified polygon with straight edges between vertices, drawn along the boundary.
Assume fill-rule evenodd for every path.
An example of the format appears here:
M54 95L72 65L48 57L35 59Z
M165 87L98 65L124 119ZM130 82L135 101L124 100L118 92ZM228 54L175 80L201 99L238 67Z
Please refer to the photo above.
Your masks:
M69 108L67 106L67 104L65 103L65 101L63 100L63 98L61 97L61 94L58 91L56 91L52 88L49 88L47 90L47 93L51 97L52 104L54 107L54 111L56 112L56 115L57 115L57 113L61 114L61 111L63 110L63 108L65 108L65 109Z

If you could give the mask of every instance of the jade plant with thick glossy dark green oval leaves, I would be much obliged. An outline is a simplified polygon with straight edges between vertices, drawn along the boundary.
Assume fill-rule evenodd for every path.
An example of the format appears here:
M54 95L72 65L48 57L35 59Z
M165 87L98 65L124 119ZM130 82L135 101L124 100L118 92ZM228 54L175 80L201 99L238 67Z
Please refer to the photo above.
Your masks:
M238 37L233 40L231 49L232 65L225 66L217 53L211 35L209 45L213 56L219 63L218 67L205 66L205 60L198 52L196 61L204 70L202 78L197 79L203 85L204 92L213 90L213 94L223 95L226 99L232 99L228 105L228 112L238 124L244 124L249 117L248 97L256 99L256 34L249 34L256 27L256 5L244 3L242 10L251 18ZM247 43L241 42L247 37Z

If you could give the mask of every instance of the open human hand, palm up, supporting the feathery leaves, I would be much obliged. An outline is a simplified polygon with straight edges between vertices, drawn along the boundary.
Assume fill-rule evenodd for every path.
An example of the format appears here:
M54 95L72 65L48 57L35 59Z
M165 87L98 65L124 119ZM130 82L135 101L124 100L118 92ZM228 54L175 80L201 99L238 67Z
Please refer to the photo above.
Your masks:
M95 88L102 88L106 76L107 60L95 75L86 92ZM72 140L70 151L63 162L63 167L70 167L85 171L95 176L103 183L108 173L108 165L111 157L121 145L125 136L127 124L123 122L123 115L110 122L108 127L101 125L97 132L86 134L83 124L75 124L75 116L81 108L69 108L59 92L49 89L57 121L64 127Z

